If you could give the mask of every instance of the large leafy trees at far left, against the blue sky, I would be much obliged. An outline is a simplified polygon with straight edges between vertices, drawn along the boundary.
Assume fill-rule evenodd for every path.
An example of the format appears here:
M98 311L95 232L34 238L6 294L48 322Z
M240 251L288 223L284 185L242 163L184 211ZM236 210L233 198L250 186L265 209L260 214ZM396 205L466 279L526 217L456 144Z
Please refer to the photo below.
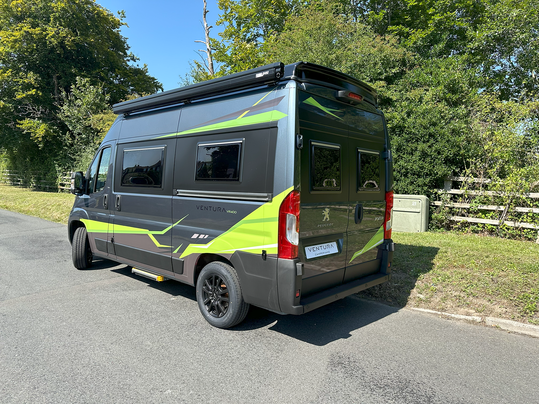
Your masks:
M162 90L135 64L124 17L92 0L0 0L0 150L11 168L69 168L95 148L90 133L106 128L112 103ZM101 129L88 114L107 116L93 123Z

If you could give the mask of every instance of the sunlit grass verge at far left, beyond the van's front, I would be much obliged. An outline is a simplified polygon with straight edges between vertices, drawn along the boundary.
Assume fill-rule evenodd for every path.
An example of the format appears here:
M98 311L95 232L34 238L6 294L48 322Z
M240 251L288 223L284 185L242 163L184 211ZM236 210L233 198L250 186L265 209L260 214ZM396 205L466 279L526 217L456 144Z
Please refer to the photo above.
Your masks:
M0 185L0 209L67 224L75 196Z

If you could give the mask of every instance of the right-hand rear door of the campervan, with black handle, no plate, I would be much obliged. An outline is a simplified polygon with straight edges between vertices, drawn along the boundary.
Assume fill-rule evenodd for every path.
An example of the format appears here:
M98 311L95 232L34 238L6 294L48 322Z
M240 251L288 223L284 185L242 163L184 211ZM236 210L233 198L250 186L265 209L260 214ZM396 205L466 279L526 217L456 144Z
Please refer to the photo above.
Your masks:
M385 215L385 132L382 116L348 107L348 251L343 282L377 273Z

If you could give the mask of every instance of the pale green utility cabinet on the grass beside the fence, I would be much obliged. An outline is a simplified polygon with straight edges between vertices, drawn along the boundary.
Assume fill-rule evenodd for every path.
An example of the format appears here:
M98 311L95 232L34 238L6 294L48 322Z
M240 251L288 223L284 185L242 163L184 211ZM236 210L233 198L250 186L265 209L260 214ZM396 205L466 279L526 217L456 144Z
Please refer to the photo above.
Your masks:
M426 232L429 229L429 203L429 198L423 195L393 195L393 231Z

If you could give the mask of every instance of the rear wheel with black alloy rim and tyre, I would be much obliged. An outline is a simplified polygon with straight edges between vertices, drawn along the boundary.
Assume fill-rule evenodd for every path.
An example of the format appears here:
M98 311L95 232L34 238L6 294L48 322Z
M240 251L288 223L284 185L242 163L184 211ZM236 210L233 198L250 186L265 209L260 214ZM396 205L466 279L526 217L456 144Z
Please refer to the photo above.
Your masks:
M236 270L224 262L210 262L197 280L197 302L202 315L217 328L241 323L250 305L243 301Z

